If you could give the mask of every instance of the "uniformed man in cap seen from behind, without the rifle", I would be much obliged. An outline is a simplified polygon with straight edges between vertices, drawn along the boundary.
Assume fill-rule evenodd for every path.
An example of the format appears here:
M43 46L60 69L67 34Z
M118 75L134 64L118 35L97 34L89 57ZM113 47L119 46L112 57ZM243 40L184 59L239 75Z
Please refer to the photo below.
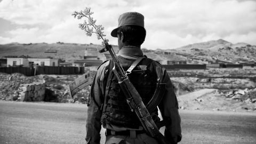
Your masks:
M181 120L170 77L161 64L146 58L140 49L146 37L143 15L137 12L123 13L111 36L117 37L117 58L124 70L129 71L129 79L143 103L147 105L156 97L148 109L155 123L159 123L158 106L165 121L165 138L170 143L179 142ZM139 58L139 62L134 62ZM132 70L131 66L134 66ZM113 61L103 62L93 78L87 111L86 142L100 143L102 125L106 129L106 143L158 143L146 134L138 117L127 105L125 95L112 71L113 67ZM161 95L154 95L156 83L166 83Z

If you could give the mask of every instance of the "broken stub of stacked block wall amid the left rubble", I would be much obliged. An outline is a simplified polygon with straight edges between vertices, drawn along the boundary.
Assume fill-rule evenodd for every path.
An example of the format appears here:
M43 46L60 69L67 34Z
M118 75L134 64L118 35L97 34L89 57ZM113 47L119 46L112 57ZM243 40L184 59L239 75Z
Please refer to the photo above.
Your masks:
M45 81L22 84L19 87L20 101L43 101L45 96Z

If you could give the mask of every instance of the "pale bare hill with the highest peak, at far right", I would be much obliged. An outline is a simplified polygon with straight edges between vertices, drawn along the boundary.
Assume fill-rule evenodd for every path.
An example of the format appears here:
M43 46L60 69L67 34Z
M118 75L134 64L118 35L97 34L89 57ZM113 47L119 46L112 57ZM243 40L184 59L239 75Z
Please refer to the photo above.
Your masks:
M173 50L170 50L173 51ZM246 43L232 44L223 39L203 43L190 44L174 49L175 52L186 53L196 58L209 61L223 60L227 62L255 62L256 46Z

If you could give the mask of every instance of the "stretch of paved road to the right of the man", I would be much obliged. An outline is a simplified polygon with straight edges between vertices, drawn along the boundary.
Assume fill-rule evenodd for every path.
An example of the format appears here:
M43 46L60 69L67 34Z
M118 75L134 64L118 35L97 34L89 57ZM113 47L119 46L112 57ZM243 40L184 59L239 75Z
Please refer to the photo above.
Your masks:
M181 111L181 143L256 143L256 113Z

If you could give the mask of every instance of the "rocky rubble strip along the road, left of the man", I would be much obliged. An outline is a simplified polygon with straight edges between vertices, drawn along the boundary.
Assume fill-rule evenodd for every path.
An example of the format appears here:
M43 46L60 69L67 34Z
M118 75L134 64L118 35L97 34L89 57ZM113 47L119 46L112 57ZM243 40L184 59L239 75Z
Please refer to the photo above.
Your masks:
M43 100L47 102L87 103L90 91L89 86L73 95L73 98L70 96L68 84L77 77L78 75L37 75L27 77L19 73L10 75L0 73L0 99L11 101ZM39 83L43 83L43 85Z

